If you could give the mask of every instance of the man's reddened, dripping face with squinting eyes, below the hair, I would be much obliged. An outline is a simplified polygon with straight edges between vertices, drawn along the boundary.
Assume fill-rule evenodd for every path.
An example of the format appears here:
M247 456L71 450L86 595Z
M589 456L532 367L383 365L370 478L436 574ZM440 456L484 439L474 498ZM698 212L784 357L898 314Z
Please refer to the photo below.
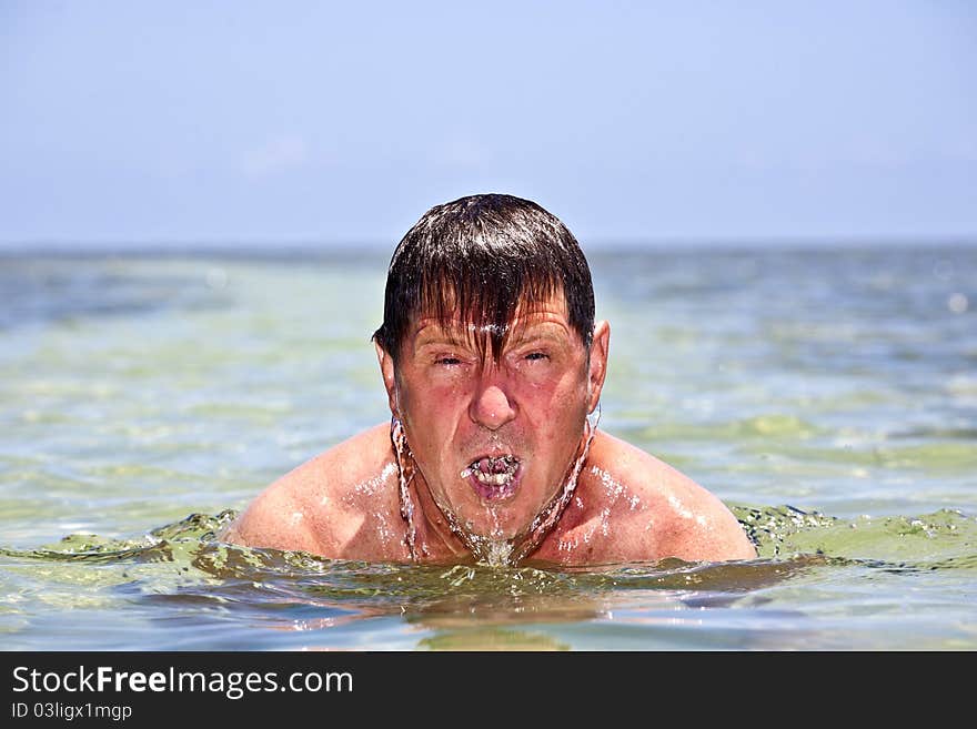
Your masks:
M431 495L470 534L507 539L560 492L601 396L610 327L590 356L562 292L517 310L501 356L482 356L480 332L412 323L394 367L377 347L391 411L401 418Z

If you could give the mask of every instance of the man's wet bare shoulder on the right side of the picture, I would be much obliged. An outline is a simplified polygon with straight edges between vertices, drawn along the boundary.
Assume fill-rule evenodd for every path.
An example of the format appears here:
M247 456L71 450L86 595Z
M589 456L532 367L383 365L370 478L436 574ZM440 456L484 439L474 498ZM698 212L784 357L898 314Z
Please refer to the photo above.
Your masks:
M555 546L571 561L756 557L728 508L673 466L598 433ZM576 553L576 554L575 554ZM563 559L562 559L563 561Z

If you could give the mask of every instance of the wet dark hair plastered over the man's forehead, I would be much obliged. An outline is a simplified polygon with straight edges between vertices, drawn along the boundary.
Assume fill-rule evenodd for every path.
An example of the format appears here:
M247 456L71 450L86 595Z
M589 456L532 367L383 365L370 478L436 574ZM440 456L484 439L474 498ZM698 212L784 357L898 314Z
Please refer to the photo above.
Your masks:
M461 198L429 210L401 240L373 338L396 363L416 316L432 316L445 330L461 318L483 332L475 335L480 354L491 348L498 357L516 307L532 311L561 291L570 325L590 351L594 287L573 234L528 200Z

